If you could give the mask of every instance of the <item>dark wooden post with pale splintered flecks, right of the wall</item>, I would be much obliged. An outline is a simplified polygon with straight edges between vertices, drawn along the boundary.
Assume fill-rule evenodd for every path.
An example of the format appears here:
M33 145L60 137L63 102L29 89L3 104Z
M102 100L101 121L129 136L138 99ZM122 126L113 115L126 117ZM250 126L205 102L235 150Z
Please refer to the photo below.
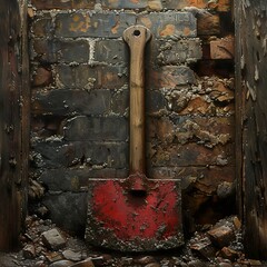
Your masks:
M250 258L267 259L267 1L236 1L239 209Z

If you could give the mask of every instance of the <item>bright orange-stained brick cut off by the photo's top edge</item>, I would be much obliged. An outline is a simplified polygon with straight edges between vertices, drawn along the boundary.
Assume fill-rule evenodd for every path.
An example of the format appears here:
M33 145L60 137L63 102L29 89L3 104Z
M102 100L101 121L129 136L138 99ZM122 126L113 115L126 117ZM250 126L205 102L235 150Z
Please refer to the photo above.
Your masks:
M184 9L186 7L196 7L199 9L209 8L216 9L217 11L229 11L230 9L230 0L218 0L218 1L209 1L209 0L166 0L164 1L164 8L167 9Z

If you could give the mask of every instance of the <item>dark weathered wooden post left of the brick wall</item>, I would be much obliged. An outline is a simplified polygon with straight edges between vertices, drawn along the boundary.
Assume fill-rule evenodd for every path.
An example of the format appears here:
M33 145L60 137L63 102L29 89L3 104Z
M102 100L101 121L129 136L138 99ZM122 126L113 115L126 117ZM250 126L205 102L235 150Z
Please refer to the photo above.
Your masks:
M21 91L28 66L21 57L19 2L0 0L0 250L10 250L18 245L26 214L22 212L26 180L21 176Z

